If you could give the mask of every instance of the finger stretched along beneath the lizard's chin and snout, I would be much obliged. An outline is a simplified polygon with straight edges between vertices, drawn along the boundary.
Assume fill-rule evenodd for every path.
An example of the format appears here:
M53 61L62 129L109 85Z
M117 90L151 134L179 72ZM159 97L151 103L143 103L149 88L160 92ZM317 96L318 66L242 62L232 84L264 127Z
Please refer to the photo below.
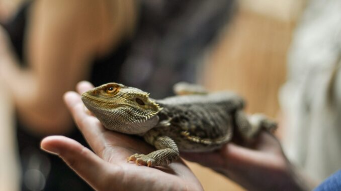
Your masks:
M89 145L96 153L101 152L105 148L105 143L102 142L103 139L101 138L105 129L101 122L86 112L85 106L76 92L66 92L64 94L64 101L67 108L71 111L77 127Z

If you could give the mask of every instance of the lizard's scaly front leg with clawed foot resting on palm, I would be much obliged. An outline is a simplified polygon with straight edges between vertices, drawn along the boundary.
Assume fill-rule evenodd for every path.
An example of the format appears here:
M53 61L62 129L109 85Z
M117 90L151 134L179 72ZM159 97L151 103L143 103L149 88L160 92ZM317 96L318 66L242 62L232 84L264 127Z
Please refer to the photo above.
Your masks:
M144 135L144 139L155 146L157 150L149 154L133 154L128 161L135 161L139 165L164 166L179 157L179 149L174 140L167 136Z

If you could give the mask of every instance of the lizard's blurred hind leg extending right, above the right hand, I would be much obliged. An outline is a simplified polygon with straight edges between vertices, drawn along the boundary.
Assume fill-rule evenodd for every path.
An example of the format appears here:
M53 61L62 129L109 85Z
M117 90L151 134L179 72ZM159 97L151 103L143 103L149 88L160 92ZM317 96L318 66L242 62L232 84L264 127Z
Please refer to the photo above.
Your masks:
M274 132L277 123L263 114L247 116L242 111L236 112L236 127L241 136L247 140L254 138L262 129Z

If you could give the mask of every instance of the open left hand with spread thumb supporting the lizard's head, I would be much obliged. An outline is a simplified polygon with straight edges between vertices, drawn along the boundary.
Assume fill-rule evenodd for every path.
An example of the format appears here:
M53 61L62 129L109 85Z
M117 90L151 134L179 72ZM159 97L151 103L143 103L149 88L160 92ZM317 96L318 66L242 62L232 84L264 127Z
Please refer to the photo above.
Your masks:
M93 86L77 85L81 94ZM60 156L96 190L203 190L199 180L181 160L167 167L146 167L128 163L134 153L149 153L154 148L137 137L109 131L84 107L80 95L67 92L64 101L79 130L94 150L64 136L49 136L41 147Z

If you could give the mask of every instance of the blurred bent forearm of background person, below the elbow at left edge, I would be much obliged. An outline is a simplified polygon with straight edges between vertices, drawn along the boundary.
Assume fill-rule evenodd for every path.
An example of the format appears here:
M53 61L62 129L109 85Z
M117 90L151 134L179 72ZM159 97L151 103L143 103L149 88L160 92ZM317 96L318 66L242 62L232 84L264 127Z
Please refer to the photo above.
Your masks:
M71 127L71 117L59 96L46 97L31 69L23 69L10 55L2 58L2 80L13 98L17 114L25 126L37 134L65 133ZM48 90L47 90L48 91ZM66 91L66 90L65 90Z

